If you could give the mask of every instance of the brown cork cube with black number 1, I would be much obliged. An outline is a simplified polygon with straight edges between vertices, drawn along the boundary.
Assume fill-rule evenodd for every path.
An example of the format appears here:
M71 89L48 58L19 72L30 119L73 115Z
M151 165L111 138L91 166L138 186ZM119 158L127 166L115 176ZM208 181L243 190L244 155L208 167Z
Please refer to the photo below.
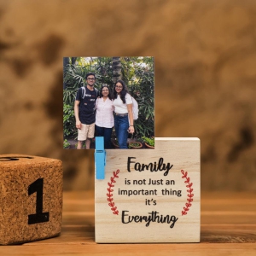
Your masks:
M0 244L61 233L62 177L61 160L0 154Z

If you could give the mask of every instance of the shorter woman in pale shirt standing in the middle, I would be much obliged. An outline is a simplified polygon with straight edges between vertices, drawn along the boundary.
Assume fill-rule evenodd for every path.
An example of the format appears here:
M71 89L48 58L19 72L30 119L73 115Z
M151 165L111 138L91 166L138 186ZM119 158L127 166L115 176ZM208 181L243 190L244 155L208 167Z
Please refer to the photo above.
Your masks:
M104 148L112 148L113 100L108 85L103 85L96 100L96 136L104 137Z

